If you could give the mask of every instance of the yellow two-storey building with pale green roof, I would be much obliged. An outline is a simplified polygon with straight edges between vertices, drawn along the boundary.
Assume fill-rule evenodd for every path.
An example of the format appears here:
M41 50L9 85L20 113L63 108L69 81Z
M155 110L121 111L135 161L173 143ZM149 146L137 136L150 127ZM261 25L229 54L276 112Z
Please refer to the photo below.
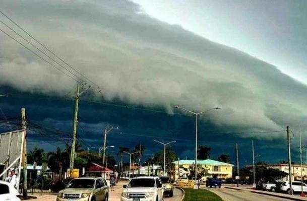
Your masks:
M193 168L195 160L179 160L173 163L173 178L187 177L190 169ZM211 159L197 161L197 167L208 169L206 177L217 177L221 179L232 178L232 164L223 163Z

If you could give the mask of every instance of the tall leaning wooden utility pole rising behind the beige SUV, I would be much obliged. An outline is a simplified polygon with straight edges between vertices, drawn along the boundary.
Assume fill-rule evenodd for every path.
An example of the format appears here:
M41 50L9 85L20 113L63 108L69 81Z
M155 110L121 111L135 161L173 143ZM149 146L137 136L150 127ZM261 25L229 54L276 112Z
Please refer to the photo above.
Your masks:
M72 150L71 150L71 161L70 161L70 175L71 177L73 169L74 169L74 161L75 161L75 149L76 149L76 135L77 135L77 123L78 123L78 106L79 106L79 91L80 86L77 84L77 92L76 92L76 100L75 100L75 115L74 115L74 125L73 125L73 138L72 138Z

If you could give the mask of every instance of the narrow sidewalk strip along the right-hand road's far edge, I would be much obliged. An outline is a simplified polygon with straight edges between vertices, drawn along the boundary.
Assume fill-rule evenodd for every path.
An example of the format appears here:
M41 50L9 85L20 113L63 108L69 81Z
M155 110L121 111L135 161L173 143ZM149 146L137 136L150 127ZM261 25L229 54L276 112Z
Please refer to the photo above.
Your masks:
M280 192L270 192L270 191L264 191L264 190L256 190L256 189L253 189L253 188L233 187L233 186L225 186L224 188L235 189L235 190L246 190L246 191L250 191L250 192L253 192L253 193L270 195L270 196L286 198L286 199L291 199L291 200L298 200L298 201L307 200L307 197L301 197L299 195L289 195L289 194L280 193Z

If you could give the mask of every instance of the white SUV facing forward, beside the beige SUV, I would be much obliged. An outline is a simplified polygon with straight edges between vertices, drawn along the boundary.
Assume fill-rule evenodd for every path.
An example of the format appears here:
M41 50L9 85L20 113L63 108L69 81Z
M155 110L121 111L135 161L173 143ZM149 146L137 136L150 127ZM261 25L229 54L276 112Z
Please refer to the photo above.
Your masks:
M164 190L159 177L142 176L122 186L121 201L164 201Z

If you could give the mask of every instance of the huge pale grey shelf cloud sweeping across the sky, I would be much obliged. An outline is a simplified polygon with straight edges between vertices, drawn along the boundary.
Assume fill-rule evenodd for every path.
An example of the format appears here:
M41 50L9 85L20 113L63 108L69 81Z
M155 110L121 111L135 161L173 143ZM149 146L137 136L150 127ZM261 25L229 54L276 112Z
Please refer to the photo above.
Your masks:
M106 99L192 110L218 105L211 121L244 130L281 129L306 116L306 86L264 61L152 19L132 2L5 0L2 10L98 83ZM64 94L74 80L0 33L0 85Z

